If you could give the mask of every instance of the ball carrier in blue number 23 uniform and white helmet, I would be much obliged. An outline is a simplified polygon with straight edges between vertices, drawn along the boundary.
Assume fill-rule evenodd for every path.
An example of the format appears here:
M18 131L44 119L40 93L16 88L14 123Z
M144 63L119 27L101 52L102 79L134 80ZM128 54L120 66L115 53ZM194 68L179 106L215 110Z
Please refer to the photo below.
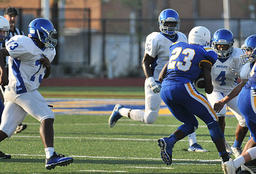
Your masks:
M231 159L215 111L193 85L194 80L203 73L205 92L210 94L213 91L211 67L216 62L217 54L210 44L209 30L203 26L194 27L189 32L189 44L176 42L171 45L169 61L160 73L160 81L164 78L161 98L173 116L183 122L171 135L158 140L162 160L167 165L172 163L174 144L198 128L195 116L207 124L222 163Z

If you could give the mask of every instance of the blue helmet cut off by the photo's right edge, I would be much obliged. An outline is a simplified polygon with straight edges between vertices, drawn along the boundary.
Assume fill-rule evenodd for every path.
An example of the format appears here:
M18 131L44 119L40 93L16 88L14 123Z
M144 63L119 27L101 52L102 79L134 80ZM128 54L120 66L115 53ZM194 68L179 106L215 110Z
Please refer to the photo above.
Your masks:
M256 59L256 35L251 35L245 39L241 46L243 55L240 56L243 64L251 62ZM250 52L250 53L249 53Z

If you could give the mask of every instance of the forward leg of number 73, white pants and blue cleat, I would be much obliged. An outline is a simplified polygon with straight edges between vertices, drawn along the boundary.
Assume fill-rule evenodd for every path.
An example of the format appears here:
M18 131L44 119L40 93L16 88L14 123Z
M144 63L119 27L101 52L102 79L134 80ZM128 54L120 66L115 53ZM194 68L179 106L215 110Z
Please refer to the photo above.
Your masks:
M24 102L25 100L26 102ZM41 122L40 136L46 152L45 167L50 170L56 166L65 166L73 162L73 158L57 155L54 151L53 122L55 116L40 93L37 90L33 90L20 94L15 98L15 102L27 111L28 114Z

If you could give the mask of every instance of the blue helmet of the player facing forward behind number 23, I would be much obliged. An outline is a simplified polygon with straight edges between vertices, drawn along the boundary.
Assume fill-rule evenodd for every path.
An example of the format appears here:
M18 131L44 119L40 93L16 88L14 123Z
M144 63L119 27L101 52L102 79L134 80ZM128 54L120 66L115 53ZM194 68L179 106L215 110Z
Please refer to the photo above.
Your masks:
M180 18L179 14L173 10L173 9L165 9L163 10L158 18L159 21L159 29L162 33L168 34L169 36L172 36L179 32L180 30ZM175 22L175 26L165 26L165 22Z

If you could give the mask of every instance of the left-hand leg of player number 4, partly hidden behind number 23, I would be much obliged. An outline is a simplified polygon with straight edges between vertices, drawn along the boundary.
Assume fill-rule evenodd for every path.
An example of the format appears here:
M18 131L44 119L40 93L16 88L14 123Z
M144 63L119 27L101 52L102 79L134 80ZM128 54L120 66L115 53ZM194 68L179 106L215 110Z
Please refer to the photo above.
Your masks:
M211 94L206 94L207 99L209 101L209 103L211 104L211 106L214 106L214 103L216 103L217 101L221 100L223 97L225 97L225 94L222 92L217 92L217 91L213 91ZM223 138L225 139L224 136L224 132L225 132L225 126L226 126L226 122L225 122L225 115L226 115L227 109L226 109L226 105L222 108L222 110L217 113L216 115L218 116L218 123L220 125L220 129L222 131L222 135ZM225 147L226 150L229 154L233 154L233 151L231 149L231 146L229 145L228 142L225 141Z

